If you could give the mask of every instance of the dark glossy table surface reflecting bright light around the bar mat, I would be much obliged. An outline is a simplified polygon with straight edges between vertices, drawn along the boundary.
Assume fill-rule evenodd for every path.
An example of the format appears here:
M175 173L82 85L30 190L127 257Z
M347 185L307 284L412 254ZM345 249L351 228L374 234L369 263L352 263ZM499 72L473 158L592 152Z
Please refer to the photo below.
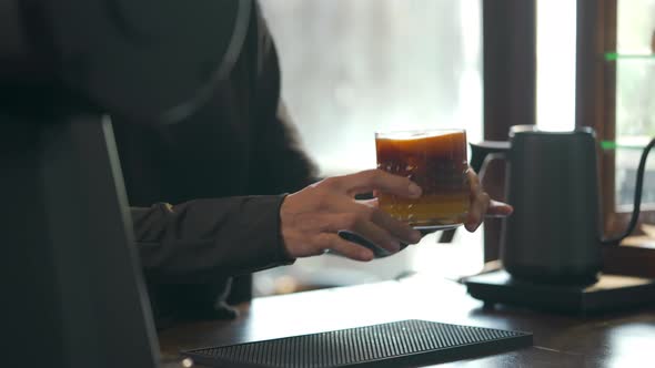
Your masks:
M484 308L464 286L435 276L256 298L239 308L235 320L187 323L160 333L164 361L184 349L426 319L534 334L531 348L440 367L655 367L653 307L592 317Z

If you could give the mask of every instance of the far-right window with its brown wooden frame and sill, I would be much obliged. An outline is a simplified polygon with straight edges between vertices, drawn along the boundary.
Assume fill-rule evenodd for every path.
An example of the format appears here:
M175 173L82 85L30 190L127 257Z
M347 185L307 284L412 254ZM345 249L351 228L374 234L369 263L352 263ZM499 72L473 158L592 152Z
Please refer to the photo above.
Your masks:
M578 0L577 10L576 123L591 122L606 142L604 227L618 234L632 211L639 151L655 135L655 0ZM606 272L655 276L654 178L649 162L638 233L622 247L604 249Z

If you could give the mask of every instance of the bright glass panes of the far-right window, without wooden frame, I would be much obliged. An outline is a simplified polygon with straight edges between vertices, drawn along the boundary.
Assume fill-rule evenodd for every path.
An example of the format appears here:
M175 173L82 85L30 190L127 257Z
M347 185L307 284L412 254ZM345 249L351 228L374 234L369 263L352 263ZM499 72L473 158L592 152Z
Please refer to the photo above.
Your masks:
M655 0L621 0L617 18L615 201L619 211L628 212L641 147L655 136ZM655 205L653 160L643 203Z

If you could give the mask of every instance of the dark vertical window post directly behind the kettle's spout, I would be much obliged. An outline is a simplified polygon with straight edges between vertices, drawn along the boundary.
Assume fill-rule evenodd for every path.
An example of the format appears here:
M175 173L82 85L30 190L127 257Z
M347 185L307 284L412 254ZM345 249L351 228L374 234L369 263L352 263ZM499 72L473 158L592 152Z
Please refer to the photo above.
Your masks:
M536 0L482 1L484 139L506 141L512 125L536 123ZM495 161L484 178L504 200L505 165ZM502 219L484 222L484 260L500 258Z

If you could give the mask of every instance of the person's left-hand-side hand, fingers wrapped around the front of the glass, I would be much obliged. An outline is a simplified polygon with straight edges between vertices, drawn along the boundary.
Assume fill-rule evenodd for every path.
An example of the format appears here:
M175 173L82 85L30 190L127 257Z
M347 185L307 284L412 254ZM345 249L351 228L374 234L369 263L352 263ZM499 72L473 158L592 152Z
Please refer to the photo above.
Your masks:
M355 201L355 194L374 191L407 198L421 196L421 188L406 177L381 170L329 177L284 200L280 209L282 238L292 257L308 257L335 251L356 260L371 260L371 249L347 242L339 231L356 233L396 253L401 242L416 244L421 233L377 208L376 201Z

